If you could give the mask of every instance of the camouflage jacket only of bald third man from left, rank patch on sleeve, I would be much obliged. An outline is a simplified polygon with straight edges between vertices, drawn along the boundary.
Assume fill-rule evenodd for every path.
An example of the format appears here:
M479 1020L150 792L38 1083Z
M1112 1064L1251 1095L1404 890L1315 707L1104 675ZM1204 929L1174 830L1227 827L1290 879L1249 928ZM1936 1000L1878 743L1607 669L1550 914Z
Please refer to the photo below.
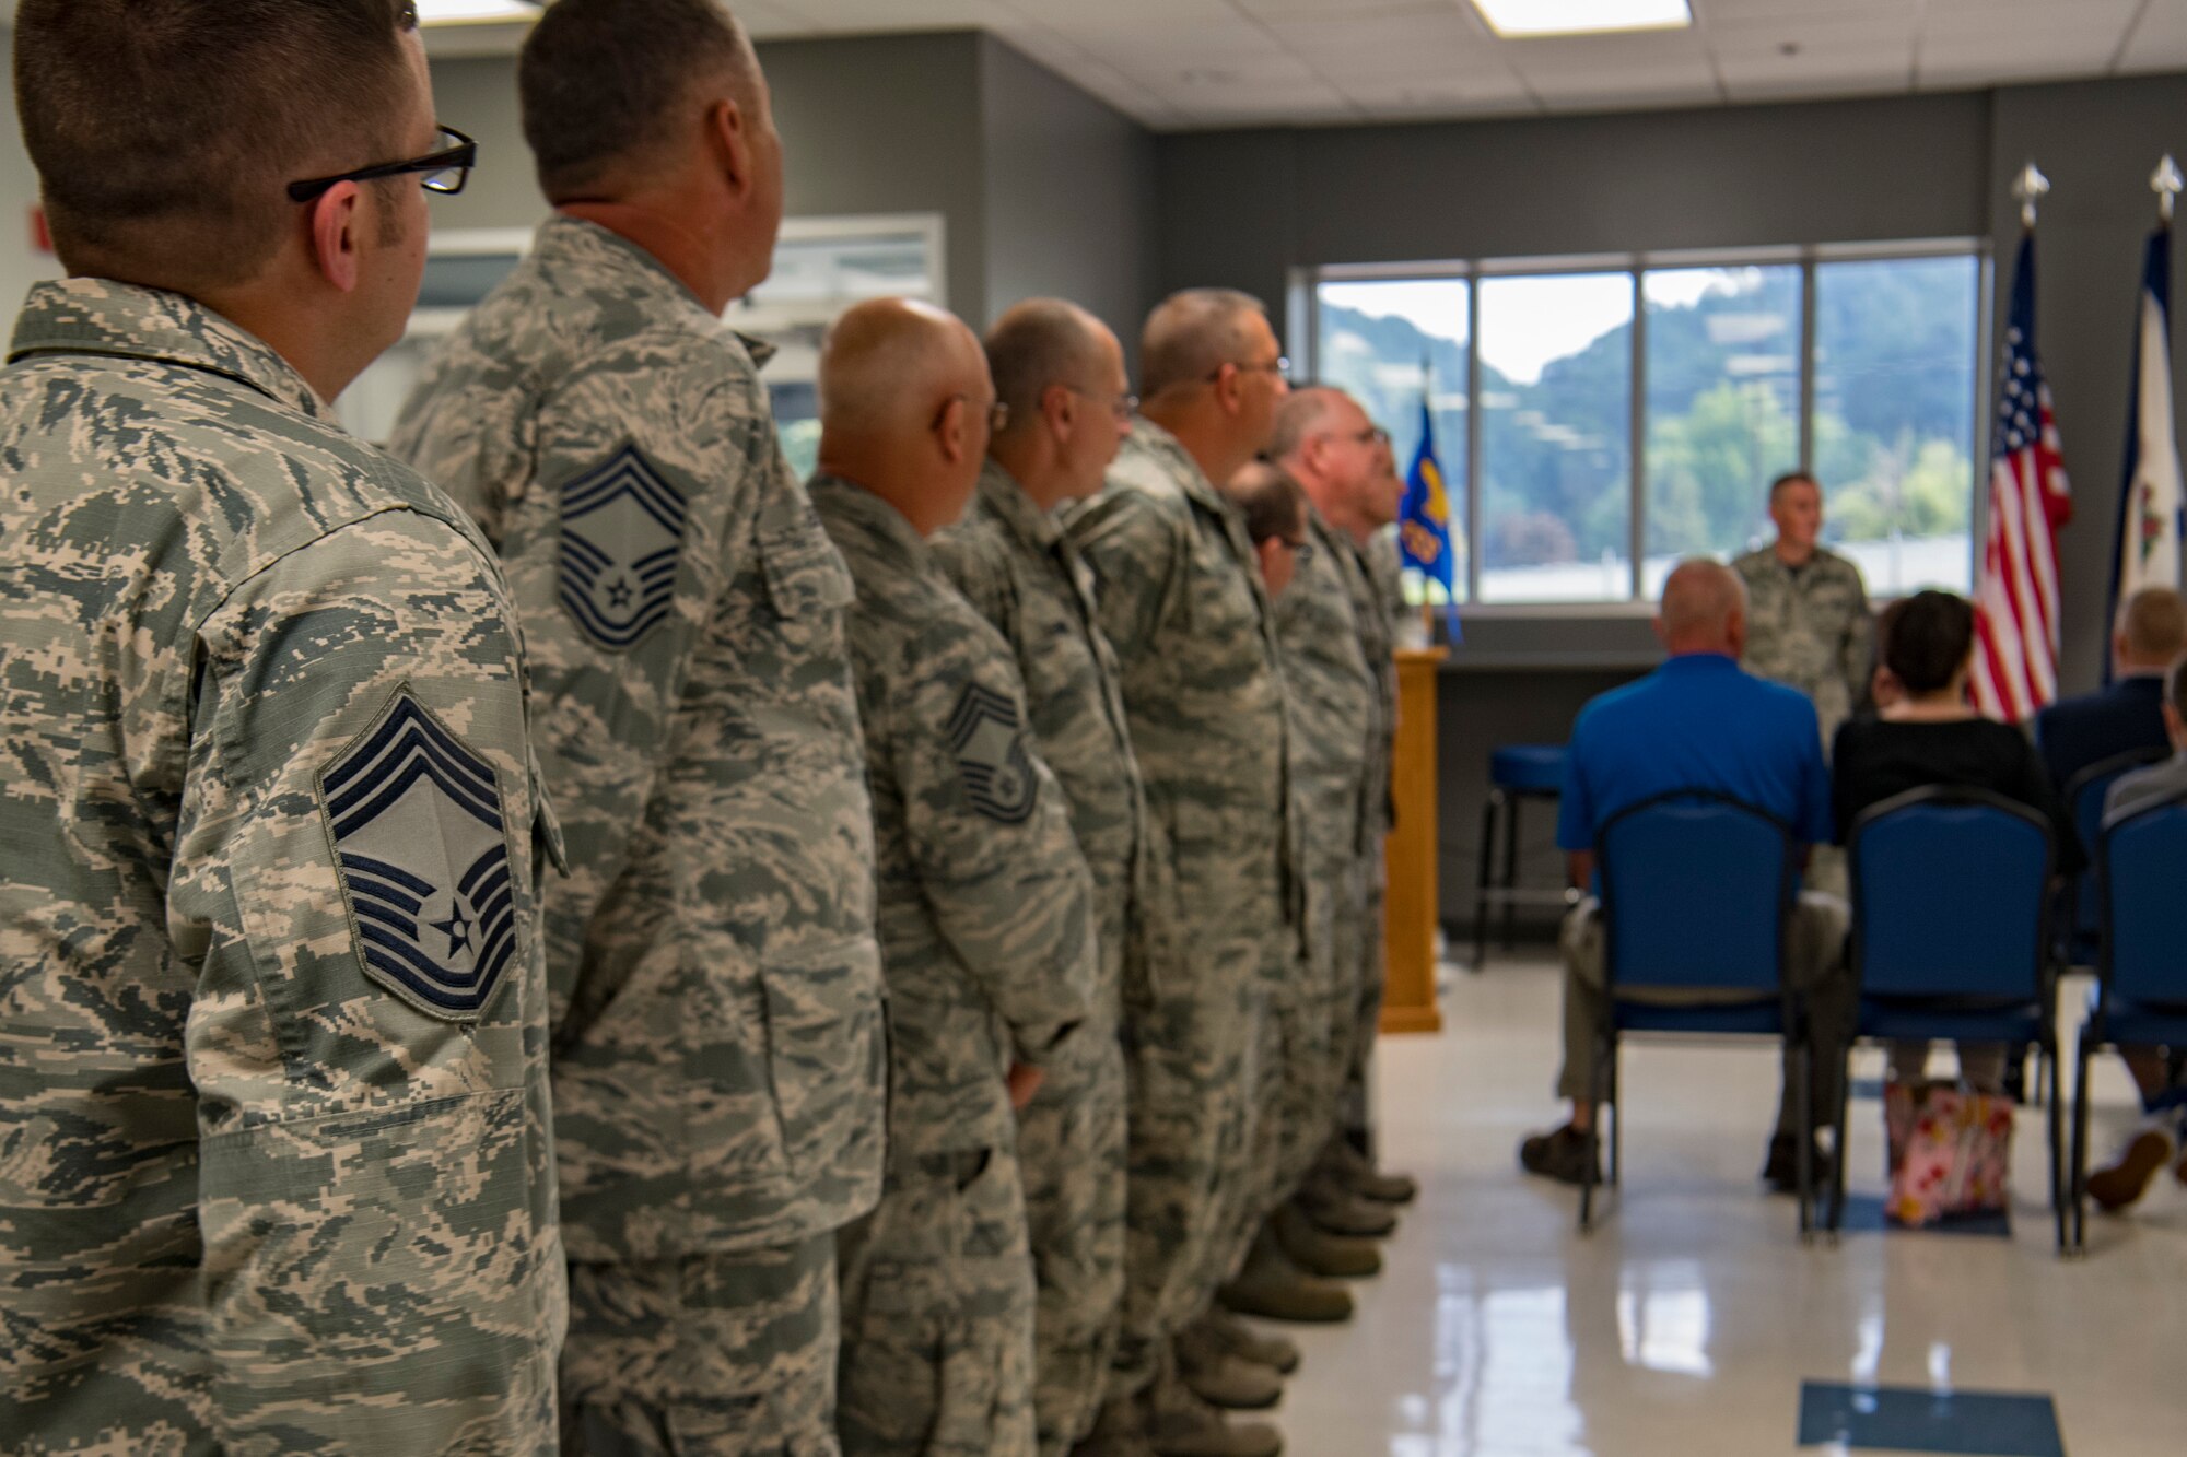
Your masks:
M1002 1074L1043 1061L1094 998L1091 877L1026 746L1010 645L873 492L814 477L857 582L846 632L866 715L888 971L892 1162L1008 1149Z

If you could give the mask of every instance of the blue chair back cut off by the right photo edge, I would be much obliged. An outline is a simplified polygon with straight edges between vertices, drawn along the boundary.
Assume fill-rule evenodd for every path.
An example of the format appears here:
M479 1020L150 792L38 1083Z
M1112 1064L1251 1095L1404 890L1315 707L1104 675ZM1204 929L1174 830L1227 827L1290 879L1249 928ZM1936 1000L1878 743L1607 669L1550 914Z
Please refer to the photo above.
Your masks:
M2104 984L2132 1002L2187 1006L2187 801L2150 805L2095 844Z

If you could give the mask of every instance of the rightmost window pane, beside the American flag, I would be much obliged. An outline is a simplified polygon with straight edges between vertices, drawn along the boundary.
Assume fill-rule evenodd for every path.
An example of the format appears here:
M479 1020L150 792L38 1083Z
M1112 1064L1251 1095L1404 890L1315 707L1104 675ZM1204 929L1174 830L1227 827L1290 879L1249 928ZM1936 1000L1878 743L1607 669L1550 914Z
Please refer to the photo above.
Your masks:
M1824 540L1868 591L1968 591L1977 258L1815 267L1815 473Z

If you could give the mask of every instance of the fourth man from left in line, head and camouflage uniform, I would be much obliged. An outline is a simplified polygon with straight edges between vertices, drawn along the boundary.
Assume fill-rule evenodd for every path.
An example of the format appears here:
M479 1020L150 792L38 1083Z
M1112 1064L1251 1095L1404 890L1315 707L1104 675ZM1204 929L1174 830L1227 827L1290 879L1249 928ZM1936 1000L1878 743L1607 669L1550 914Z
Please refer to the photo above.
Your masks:
M934 556L1017 658L1032 748L1063 785L1094 873L1100 945L1094 1009L1017 1122L1039 1289L1041 1457L1065 1457L1094 1429L1115 1356L1126 1140L1118 1030L1146 1004L1148 939L1166 928L1142 884L1146 799L1115 654L1056 508L1100 490L1133 398L1115 335L1063 300L1004 313L986 335L986 363L1008 422L986 446L964 518L934 538Z

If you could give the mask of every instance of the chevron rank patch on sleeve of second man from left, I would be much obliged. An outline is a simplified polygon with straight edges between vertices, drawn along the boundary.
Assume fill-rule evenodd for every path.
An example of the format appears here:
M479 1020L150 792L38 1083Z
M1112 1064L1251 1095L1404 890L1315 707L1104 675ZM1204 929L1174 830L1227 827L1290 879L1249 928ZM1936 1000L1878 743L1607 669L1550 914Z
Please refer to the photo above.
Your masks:
M562 488L562 608L593 643L628 652L676 599L685 499L636 446Z

